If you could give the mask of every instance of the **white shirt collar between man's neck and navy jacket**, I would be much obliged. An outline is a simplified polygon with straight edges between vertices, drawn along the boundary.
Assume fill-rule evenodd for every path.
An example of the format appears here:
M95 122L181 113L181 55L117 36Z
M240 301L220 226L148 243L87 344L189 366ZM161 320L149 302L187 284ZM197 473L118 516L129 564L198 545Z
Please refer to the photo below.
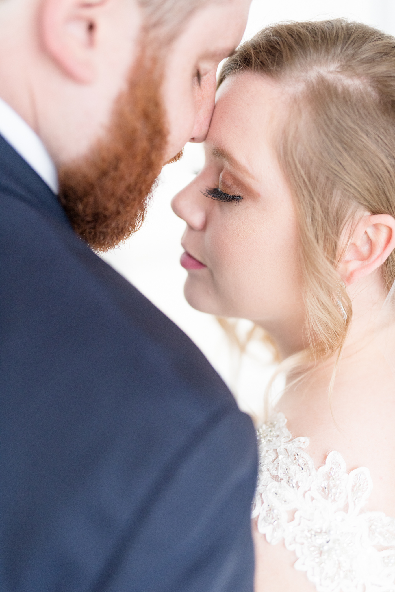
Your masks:
M0 134L57 194L56 167L46 147L30 126L0 98Z

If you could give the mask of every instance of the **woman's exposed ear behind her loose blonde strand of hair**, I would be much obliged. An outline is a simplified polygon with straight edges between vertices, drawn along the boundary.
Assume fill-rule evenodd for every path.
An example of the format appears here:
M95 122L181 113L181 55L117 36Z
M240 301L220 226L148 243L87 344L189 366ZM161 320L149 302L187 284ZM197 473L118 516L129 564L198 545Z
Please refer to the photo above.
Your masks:
M354 284L380 267L395 249L395 219L388 214L364 215L355 227L339 274Z

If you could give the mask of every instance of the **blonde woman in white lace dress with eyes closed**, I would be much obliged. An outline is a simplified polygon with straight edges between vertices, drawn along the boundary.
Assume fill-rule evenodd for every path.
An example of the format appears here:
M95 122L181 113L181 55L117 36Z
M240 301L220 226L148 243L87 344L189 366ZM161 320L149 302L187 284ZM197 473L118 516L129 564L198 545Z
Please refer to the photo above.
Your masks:
M395 39L274 25L224 65L174 198L195 308L249 318L287 387L258 429L256 591L395 590Z

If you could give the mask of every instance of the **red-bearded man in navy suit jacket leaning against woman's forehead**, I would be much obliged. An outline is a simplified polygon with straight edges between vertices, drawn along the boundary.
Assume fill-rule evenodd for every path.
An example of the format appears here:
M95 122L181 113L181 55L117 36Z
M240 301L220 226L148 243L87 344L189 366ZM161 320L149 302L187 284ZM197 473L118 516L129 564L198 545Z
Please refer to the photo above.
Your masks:
M0 0L0 590L252 591L251 421L108 267L248 0Z

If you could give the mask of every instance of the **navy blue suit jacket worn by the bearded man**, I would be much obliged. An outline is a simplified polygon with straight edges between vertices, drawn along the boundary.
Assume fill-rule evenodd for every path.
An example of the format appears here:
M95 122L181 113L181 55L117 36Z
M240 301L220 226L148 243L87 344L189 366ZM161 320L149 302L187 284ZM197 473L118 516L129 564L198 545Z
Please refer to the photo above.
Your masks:
M0 590L252 592L251 420L0 137Z

